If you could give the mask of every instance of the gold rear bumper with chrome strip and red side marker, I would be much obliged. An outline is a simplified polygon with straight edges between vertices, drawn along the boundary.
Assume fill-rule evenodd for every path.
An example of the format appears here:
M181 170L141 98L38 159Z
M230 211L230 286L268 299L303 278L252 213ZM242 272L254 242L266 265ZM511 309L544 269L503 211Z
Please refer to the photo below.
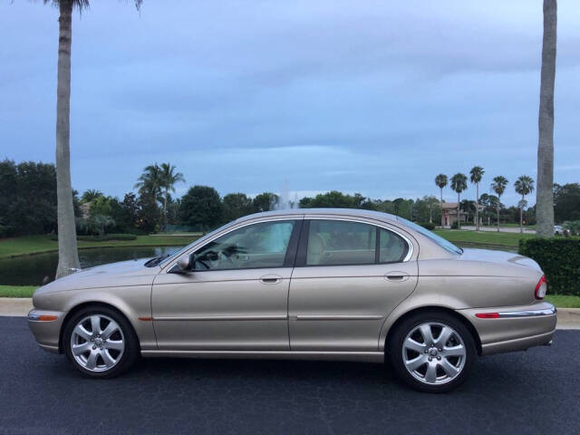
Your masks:
M547 302L523 306L459 310L478 332L481 354L523 351L551 342L556 331L556 307ZM479 318L476 314L498 314Z

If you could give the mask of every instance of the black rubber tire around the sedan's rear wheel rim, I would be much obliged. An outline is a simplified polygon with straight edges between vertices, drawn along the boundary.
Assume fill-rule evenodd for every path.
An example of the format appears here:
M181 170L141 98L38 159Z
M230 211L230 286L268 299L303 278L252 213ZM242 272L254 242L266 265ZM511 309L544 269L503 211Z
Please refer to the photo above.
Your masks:
M457 363L461 366L461 370L459 374L456 375L455 378L445 381L444 383L427 383L426 381L421 381L415 375L411 374L407 367L405 366L405 362L403 360L403 342L407 338L407 335L415 328L420 326L420 324L442 324L447 325L452 328L455 333L457 333L460 337L460 340L463 341L465 346L465 359L462 362L459 362L459 358L457 360L450 359L451 362ZM468 328L460 322L455 316L448 313L443 313L439 311L432 311L432 312L422 312L418 314L412 314L407 319L403 320L401 324L398 324L396 329L391 334L391 338L389 343L387 343L387 352L389 353L388 357L391 362L391 368L397 375L397 377L411 388L418 390L418 391L425 391L425 392L448 392L456 389L461 385L469 376L469 371L471 369L471 363L475 359L477 352L476 352L476 345L473 340L473 336L469 332ZM434 329L431 331L437 332L437 326L433 326ZM435 337L436 339L438 337ZM455 340L457 337L453 337L451 340ZM426 346L429 347L429 344ZM405 351L409 352L409 351ZM411 351L411 358L412 355L415 355ZM428 351L429 352L429 351ZM416 353L418 357L420 355L419 352ZM430 353L428 353L430 355ZM428 356L426 355L426 357ZM437 357L435 357L437 358ZM445 357L443 357L445 358ZM434 359L434 358L433 358ZM431 361L431 360L430 360ZM430 364L431 362L427 362ZM437 363L437 362L435 362ZM427 365L421 366L420 369L426 370ZM442 370L442 368L435 369L436 372ZM420 373L419 373L420 374ZM445 374L444 374L445 375Z

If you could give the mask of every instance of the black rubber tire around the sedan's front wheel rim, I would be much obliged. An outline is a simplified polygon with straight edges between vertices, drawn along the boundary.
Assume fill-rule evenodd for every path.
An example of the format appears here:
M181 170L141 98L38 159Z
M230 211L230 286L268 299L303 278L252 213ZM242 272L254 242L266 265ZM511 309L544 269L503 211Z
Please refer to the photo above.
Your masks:
M119 360L110 368L104 369L100 372L94 372L87 370L80 362L77 362L74 355L71 344L71 339L73 335L74 327L81 322L85 317L92 315L102 315L110 318L119 325L122 333L122 341L124 343L124 349L121 353ZM106 322L106 321L105 321ZM140 356L140 345L137 334L133 330L132 325L125 318L124 315L120 314L118 311L111 309L107 306L87 306L82 308L79 312L73 314L73 316L68 320L64 326L63 331L63 351L66 354L69 362L82 373L83 376L89 378L112 378L120 375L122 372L128 370L131 365L139 359ZM112 353L112 351L110 351ZM104 362L104 360L101 360Z

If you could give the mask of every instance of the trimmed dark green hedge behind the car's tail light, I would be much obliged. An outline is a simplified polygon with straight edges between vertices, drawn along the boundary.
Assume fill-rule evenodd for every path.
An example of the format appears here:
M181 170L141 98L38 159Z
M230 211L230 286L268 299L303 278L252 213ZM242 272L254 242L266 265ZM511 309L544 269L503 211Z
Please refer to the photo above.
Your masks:
M548 294L580 296L580 238L521 239L518 252L542 267Z

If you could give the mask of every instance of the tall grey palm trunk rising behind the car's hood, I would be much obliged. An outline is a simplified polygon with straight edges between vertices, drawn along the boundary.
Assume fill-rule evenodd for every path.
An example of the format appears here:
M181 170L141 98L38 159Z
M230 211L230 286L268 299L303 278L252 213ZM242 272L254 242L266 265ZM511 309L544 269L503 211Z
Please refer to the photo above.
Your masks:
M58 266L56 277L79 268L79 254L74 226L73 187L71 185L71 38L73 2L59 2L58 73L56 91L56 193L58 216Z

